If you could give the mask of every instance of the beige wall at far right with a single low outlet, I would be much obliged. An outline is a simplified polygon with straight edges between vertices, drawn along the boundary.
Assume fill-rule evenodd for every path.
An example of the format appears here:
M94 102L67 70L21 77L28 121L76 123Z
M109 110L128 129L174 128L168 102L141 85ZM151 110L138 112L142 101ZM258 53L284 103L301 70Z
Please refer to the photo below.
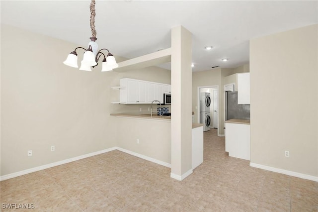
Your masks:
M251 163L318 176L317 31L250 41Z

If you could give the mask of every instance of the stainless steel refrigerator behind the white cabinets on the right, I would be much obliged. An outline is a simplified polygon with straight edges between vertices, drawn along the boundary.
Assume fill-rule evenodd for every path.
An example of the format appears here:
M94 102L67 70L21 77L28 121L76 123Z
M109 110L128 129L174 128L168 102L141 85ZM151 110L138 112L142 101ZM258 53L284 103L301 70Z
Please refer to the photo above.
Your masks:
M225 120L229 119L250 119L250 105L238 104L238 92L225 92Z

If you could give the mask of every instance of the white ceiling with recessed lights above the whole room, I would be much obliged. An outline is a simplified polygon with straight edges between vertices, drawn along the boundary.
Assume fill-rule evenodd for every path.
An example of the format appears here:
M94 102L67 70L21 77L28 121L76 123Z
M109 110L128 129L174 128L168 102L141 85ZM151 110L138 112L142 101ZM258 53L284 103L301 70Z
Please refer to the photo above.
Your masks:
M90 0L1 0L1 23L86 48L91 36L89 4ZM250 39L318 23L317 0L96 0L95 9L99 47L126 58L169 48L171 27L183 25L193 34L193 71L236 68L249 61Z

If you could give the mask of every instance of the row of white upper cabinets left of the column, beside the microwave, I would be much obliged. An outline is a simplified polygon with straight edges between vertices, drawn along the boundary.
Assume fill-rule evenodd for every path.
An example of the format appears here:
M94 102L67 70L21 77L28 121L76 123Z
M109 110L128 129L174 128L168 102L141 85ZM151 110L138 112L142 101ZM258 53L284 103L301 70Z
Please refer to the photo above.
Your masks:
M171 92L171 86L130 78L120 79L120 104L151 104L154 100L163 103L163 92Z

